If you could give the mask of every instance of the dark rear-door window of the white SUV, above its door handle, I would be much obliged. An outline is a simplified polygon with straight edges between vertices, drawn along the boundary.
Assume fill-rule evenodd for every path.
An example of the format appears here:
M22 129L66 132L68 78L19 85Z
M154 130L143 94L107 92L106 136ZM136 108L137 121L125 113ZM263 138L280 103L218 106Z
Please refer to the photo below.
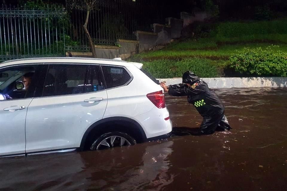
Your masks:
M99 66L50 64L42 96L60 96L103 90Z

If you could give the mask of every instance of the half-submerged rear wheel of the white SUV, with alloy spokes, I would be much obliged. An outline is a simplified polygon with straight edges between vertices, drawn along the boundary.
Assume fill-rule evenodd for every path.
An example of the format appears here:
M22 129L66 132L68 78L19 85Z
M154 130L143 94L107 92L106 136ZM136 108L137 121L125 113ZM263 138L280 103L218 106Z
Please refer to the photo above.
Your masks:
M112 147L121 147L134 144L136 144L135 139L128 134L121 132L111 132L94 138L90 150L103 150Z

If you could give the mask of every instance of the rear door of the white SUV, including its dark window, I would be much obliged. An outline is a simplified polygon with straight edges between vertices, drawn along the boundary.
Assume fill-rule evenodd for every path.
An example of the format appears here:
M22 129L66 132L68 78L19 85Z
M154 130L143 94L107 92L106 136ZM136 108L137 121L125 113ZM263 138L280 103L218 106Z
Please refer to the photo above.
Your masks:
M26 152L80 147L85 131L103 118L107 93L101 68L49 64L44 86L28 107Z

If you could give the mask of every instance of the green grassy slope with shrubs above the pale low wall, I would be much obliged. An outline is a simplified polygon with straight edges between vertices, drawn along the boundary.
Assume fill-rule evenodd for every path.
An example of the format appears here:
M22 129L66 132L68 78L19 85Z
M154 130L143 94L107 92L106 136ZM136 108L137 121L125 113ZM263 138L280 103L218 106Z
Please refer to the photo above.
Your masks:
M208 77L222 75L223 70L229 76L286 76L286 23L286 19L279 19L205 24L201 28L207 33L209 30L205 38L175 41L164 49L134 55L131 60L143 61L157 78L181 77L187 69Z

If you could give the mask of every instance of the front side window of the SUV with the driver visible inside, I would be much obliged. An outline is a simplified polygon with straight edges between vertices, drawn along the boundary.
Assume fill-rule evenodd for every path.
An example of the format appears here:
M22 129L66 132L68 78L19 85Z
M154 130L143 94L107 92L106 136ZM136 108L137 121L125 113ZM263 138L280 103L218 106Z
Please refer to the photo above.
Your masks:
M14 66L0 70L0 100L34 96L40 65Z

